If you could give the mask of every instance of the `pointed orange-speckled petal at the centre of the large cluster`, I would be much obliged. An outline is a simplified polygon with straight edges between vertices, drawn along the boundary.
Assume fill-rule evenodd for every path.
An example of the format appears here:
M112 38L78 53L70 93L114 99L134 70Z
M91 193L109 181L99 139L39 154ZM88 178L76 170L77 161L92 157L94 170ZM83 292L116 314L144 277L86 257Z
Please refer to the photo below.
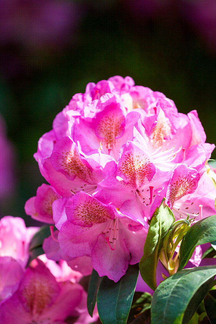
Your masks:
M138 145L128 141L118 163L118 175L133 189L140 188L155 174L150 157Z

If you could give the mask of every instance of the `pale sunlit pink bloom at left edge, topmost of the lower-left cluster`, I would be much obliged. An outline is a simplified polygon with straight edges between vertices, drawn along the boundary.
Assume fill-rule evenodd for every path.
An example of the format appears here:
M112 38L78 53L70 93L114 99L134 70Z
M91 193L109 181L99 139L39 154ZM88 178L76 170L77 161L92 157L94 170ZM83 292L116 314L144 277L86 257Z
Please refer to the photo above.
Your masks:
M20 217L5 216L0 220L0 257L10 256L25 267L29 243L38 227L27 227Z

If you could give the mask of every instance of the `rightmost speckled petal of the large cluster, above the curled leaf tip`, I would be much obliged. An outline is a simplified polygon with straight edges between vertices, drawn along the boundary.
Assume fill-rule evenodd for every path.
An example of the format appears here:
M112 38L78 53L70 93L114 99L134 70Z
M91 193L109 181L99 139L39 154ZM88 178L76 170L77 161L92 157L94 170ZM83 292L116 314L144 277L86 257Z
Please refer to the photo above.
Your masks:
M179 165L174 169L167 190L168 204L173 207L174 201L179 200L188 193L193 193L198 186L199 173L197 170Z

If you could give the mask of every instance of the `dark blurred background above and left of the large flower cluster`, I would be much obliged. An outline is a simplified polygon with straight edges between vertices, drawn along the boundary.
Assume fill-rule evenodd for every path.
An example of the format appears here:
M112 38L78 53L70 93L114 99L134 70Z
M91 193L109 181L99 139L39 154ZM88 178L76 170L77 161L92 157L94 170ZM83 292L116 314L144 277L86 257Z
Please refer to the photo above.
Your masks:
M215 0L0 0L0 45L0 114L14 147L0 217L37 224L24 212L45 182L37 141L88 82L129 75L179 112L196 109L216 142Z

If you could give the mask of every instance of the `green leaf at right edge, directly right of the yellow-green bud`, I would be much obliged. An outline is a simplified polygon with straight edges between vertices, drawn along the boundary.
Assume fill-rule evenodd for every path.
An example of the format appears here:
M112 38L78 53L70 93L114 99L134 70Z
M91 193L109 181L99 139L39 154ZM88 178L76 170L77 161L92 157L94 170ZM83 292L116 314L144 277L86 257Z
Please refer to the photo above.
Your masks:
M179 267L182 270L192 256L196 246L215 241L216 215L201 219L191 226L182 240L179 250Z

